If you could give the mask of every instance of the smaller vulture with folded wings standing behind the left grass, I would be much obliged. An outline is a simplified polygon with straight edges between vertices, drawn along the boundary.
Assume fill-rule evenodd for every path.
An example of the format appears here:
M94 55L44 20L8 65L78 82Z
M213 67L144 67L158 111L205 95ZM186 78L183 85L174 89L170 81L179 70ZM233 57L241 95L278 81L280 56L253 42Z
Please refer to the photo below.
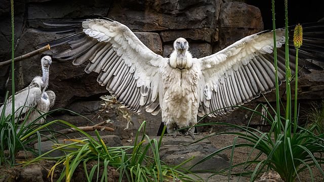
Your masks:
M52 64L50 56L44 56L41 59L43 75L35 76L30 84L15 93L15 122L22 123L25 119L25 125L36 120L42 114L47 113L55 103L55 93L51 90L46 91L49 84L49 69ZM3 111L5 105L0 107ZM30 109L28 118L27 113ZM12 96L6 102L5 116L12 114ZM1 113L0 113L1 114ZM45 118L39 119L36 123L44 123Z

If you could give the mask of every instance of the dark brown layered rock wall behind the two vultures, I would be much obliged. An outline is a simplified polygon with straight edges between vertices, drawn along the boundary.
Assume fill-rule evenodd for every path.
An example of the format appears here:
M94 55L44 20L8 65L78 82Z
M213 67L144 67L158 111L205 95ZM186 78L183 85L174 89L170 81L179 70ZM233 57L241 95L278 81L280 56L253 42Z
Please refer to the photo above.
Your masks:
M41 28L44 19L85 19L108 17L124 23L136 32L136 35L155 53L168 57L172 51L173 41L182 36L190 43L193 57L204 57L213 54L234 41L263 30L261 12L258 8L242 3L244 1L212 1L212 0L29 0L15 1L15 55L20 56L36 49L39 43L63 37L59 34L45 34L34 31ZM0 4L0 58L10 58L10 1ZM4 18L6 17L6 18ZM51 50L47 54L55 52ZM41 55L16 63L16 89L29 84L35 75L41 74L39 61ZM57 96L53 109L66 108L78 112L89 119L98 122L111 118L116 128L114 134L125 134L123 119L114 113L102 112L100 96L106 95L105 87L96 82L96 73L86 74L85 64L73 66L71 61L53 60L50 70L49 88ZM6 90L10 90L10 68L3 67L0 72L0 102ZM324 79L322 72L314 72L301 79L301 101L321 100L324 97ZM273 94L270 101L273 101ZM253 108L262 99L255 100L247 107ZM205 118L208 121L224 121L245 125L251 114L237 110L217 118ZM86 125L89 121L73 113L59 111L53 114L56 118L65 119L76 125ZM148 132L154 135L160 124L160 115L133 115L134 128L139 122L148 121ZM252 124L260 125L260 118L254 118ZM261 125L266 125L262 124ZM131 132L131 131L130 131ZM127 132L126 132L127 133Z

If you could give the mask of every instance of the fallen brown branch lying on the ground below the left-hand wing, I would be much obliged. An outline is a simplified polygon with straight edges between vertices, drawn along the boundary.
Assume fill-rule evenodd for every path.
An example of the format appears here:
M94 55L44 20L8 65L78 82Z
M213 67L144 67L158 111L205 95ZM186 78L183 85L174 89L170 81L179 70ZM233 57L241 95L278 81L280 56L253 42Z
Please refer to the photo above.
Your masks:
M77 127L77 128L79 128L80 130L83 130L83 131L94 131L96 129L97 130L114 131L113 128L108 127L108 126L104 126L105 124L108 124L108 121L103 121L103 122L95 124L93 126L80 126L80 127ZM45 142L45 141L48 141L50 139L53 139L54 137L58 137L58 136L61 136L63 134L69 134L69 133L73 133L73 132L78 132L78 131L76 129L74 129L74 128L62 129L62 130L57 131L56 133L48 134L46 136L42 136L41 142ZM31 142L30 145L34 145L36 143L38 143L37 140Z

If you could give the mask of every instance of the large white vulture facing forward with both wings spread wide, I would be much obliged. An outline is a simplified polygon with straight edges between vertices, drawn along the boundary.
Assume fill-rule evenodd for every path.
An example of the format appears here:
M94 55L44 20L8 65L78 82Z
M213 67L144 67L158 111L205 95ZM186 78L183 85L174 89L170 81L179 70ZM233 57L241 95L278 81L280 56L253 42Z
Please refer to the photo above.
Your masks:
M229 45L204 58L192 58L185 38L174 41L170 58L149 50L125 25L106 18L85 21L47 22L58 26L47 32L75 31L54 40L51 47L68 43L70 49L54 58L73 59L74 65L90 61L87 73L97 72L97 81L128 109L156 115L161 111L162 122L171 132L193 126L197 115L211 117L232 111L275 88L273 66L273 32L263 31ZM77 29L78 25L83 28ZM321 68L307 59L321 59L316 52L324 51L324 24L305 24L300 67ZM294 27L290 27L291 29ZM285 29L276 30L278 49L278 79L285 80ZM291 54L294 73L295 59ZM225 108L228 107L228 108ZM194 128L186 132L194 139ZM174 137L177 133L175 133Z

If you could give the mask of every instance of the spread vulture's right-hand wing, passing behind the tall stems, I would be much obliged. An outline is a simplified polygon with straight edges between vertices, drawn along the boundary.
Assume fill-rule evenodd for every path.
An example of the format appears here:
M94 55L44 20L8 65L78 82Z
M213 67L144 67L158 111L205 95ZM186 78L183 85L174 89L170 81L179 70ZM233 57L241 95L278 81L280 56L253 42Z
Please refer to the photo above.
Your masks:
M299 66L322 70L321 67L306 59L324 60L316 55L324 51L324 24L303 25L303 46L299 51ZM293 28L293 27L290 27ZM321 34L318 34L318 33ZM290 37L293 37L292 30ZM290 42L290 67L295 74L295 56L293 42ZM278 80L285 80L285 29L276 30L276 47L278 60ZM263 31L233 43L226 49L198 60L202 75L199 82L199 113L210 116L225 114L234 109L231 106L242 105L268 93L275 88L273 32ZM225 108L229 107L229 108ZM225 109L222 109L225 108Z

